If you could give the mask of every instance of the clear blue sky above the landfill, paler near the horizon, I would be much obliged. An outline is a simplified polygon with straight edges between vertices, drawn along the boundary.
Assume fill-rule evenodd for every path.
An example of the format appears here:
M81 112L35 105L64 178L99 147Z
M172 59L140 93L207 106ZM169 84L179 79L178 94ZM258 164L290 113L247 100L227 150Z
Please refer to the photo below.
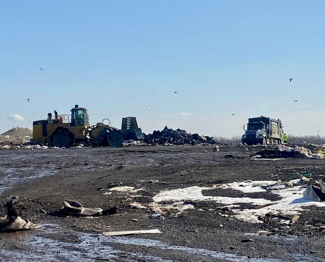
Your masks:
M146 133L240 135L248 117L266 115L286 133L325 135L324 10L324 1L6 1L0 133L79 104L91 124L132 115Z

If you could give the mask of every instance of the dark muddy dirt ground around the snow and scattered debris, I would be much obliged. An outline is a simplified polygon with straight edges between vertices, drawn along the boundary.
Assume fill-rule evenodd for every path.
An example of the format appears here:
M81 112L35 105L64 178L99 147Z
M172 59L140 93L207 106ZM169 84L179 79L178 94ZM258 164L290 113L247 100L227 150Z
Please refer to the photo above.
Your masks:
M1 234L0 261L325 261L324 232L306 228L325 224L324 207L304 207L293 225L281 224L275 217L249 223L234 218L232 210L219 208L225 204L189 198L183 200L192 209L166 211L165 219L151 218L157 213L149 208L152 197L166 190L198 186L208 188L202 191L203 196L278 201L281 197L266 191L243 193L210 187L247 180L289 181L300 177L297 172L312 173L314 180L325 174L325 160L256 160L250 155L261 148L248 149L243 152L240 146L221 146L219 153L212 153L212 146L2 149L1 211L6 213L9 196L19 196L17 214L42 227ZM295 168L281 169L288 167ZM117 186L141 190L110 191ZM115 205L117 213L93 219L51 215L66 199L85 207ZM131 202L146 209L136 209ZM247 202L236 205L235 209L241 210L256 208ZM102 234L156 228L162 233ZM260 230L270 234L245 235Z

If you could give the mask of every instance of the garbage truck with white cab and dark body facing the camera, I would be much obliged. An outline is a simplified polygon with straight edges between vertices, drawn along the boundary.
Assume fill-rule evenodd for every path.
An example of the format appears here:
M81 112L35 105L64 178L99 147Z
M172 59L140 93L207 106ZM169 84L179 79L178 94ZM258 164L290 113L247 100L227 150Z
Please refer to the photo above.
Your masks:
M248 118L248 123L243 125L245 133L241 142L247 145L282 144L283 129L279 119L265 116Z

